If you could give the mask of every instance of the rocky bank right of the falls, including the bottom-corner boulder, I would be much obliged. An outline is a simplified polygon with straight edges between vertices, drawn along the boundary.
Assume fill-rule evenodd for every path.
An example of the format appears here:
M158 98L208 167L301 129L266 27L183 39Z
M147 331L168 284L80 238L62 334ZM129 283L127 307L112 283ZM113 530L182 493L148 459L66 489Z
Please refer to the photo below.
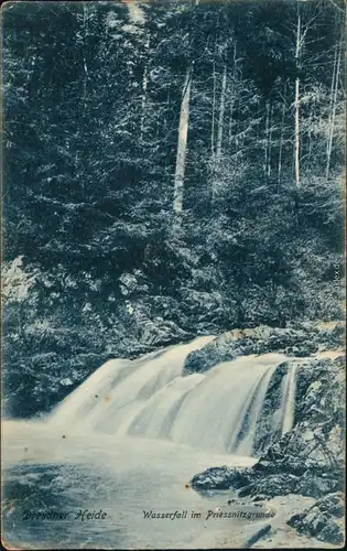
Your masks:
M297 372L295 424L270 444L250 468L215 467L195 475L195 490L237 490L239 498L301 495L317 499L290 526L321 541L340 544L344 490L344 358L313 358ZM285 366L279 369L284 370ZM274 381L270 392L275 392ZM270 399L268 398L268 406Z

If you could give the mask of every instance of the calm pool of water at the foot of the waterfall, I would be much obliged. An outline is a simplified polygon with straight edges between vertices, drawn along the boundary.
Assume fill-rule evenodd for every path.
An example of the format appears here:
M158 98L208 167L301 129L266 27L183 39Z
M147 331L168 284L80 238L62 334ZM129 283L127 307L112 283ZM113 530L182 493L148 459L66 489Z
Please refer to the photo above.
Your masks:
M215 534L249 525L206 520L208 510L231 510L230 494L202 497L188 483L209 466L246 466L252 458L165 441L63 433L42 421L4 422L2 450L3 536L10 547L187 549L198 540L202 548ZM100 518L87 518L93 511ZM149 519L144 511L171 517Z

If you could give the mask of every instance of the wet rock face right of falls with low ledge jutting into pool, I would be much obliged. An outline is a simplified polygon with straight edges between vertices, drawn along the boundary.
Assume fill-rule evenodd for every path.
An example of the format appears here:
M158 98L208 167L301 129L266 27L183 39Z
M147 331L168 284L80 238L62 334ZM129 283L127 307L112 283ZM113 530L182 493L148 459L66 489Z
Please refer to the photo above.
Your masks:
M239 497L263 499L289 494L317 499L343 490L344 365L338 358L312 359L300 367L297 376L305 385L297 397L294 428L270 444L256 465L239 477L228 467L205 472L204 489L235 488Z

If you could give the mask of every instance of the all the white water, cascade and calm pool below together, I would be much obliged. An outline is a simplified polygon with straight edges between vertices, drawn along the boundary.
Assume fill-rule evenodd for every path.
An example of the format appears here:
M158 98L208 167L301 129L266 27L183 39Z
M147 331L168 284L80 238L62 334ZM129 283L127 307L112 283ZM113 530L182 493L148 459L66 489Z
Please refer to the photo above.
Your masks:
M64 547L76 549L80 541L102 549L172 549L173 541L177 549L196 549L203 519L154 525L143 518L143 509L204 511L205 499L187 491L186 483L210 466L253 465L268 445L264 431L278 437L289 430L295 399L293 370L280 386L283 369L276 368L289 360L280 354L245 356L183 376L188 354L212 339L199 337L135 360L107 361L50 415L9 422L3 464L10 485L15 483L13 494L8 486L9 503L18 484L25 488L33 479L35 491L23 503L25 510L34 510L40 499L44 510L46 504L71 511L83 504L107 512L102 525L42 526L35 519L18 522L20 516L14 523L9 517L13 549L22 541L37 549L39 540L40 545L64 541ZM210 500L209 508L220 506L220 496ZM230 522L237 527L239 519ZM214 526L206 522L203 530L210 541Z

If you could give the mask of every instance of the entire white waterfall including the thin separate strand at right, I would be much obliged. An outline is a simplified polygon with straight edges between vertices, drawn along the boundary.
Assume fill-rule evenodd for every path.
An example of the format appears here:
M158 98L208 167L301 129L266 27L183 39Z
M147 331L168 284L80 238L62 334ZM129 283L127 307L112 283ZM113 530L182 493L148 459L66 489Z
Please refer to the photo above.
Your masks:
M258 420L281 354L245 356L183 377L186 357L213 336L137 360L107 361L51 413L50 423L196 449L252 455ZM295 369L285 376L282 433L291 429Z

